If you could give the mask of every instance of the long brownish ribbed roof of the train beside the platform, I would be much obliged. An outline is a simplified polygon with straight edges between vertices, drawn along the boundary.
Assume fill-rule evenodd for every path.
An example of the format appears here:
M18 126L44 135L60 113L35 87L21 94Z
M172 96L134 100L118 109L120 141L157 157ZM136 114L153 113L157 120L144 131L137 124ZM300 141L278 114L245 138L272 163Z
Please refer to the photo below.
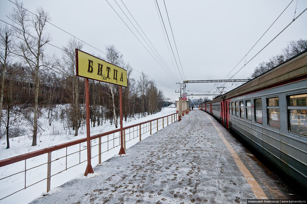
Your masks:
M241 86L228 91L208 102L218 102L225 98L234 98L255 91L261 91L270 87L289 83L291 80L299 80L307 77L307 49L291 57L272 69L262 73ZM204 103L208 103L204 102Z

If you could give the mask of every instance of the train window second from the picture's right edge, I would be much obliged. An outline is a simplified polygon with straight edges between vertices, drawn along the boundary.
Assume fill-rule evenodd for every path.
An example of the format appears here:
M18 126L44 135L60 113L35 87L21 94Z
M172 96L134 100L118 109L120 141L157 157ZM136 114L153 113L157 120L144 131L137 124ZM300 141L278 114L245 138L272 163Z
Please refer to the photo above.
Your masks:
M278 97L267 99L268 125L280 128L279 99Z

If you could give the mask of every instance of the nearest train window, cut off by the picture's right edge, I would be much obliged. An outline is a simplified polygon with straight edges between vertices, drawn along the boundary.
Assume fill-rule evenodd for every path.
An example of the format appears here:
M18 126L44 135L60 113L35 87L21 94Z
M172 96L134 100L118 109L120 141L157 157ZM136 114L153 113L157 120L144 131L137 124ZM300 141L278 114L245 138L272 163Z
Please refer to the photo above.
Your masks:
M288 97L289 129L300 135L307 136L307 94ZM295 107L291 107L295 106Z

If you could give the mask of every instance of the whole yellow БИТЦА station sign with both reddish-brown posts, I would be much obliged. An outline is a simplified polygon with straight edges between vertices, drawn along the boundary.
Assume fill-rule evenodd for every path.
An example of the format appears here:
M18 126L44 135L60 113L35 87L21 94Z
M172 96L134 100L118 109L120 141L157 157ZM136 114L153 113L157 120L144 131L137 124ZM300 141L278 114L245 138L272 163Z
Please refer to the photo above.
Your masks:
M90 141L90 97L88 79L119 85L120 109L120 143L119 154L126 154L123 147L122 132L122 86L127 87L127 70L99 59L91 54L76 49L76 76L85 78L85 103L86 103L86 138L87 138L87 167L84 176L94 173L91 166L91 141Z

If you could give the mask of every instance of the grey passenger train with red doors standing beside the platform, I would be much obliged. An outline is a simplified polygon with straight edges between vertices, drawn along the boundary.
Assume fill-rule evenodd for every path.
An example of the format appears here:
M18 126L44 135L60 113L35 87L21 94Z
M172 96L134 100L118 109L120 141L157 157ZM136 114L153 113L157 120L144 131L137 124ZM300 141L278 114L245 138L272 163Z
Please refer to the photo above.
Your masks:
M307 190L307 50L200 104Z

